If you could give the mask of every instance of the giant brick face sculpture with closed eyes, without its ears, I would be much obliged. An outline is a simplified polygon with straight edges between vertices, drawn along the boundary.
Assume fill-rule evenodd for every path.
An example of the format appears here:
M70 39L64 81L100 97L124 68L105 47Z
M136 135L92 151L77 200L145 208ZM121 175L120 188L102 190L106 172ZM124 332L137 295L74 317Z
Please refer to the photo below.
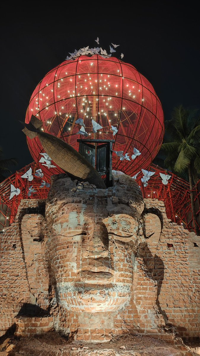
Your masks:
M51 282L66 310L111 312L130 300L143 201L130 177L119 178L121 184L112 188L80 192L68 178L65 197L59 196L62 179L53 183L46 204L47 248Z

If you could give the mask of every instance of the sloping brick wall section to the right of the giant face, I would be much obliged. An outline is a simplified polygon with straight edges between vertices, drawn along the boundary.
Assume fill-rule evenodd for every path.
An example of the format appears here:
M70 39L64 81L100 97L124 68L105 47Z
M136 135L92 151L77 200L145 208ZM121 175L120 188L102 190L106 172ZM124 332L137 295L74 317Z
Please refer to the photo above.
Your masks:
M146 265L158 283L159 309L166 323L175 326L181 336L197 339L200 336L200 237L167 219L163 202L157 199L144 199L144 202L146 209L161 214L161 222L163 219L159 240L156 237L157 248L154 235L143 245ZM158 225L149 215L149 232L156 227L157 234L157 216ZM153 258L149 250L155 253Z

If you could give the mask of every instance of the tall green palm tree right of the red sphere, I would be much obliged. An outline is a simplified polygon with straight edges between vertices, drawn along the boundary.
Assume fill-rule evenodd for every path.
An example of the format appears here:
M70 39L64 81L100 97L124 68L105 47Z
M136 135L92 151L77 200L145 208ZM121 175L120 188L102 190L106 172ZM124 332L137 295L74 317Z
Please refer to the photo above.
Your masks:
M164 160L165 168L178 175L188 174L194 231L199 236L193 194L193 185L197 183L200 174L200 116L198 110L188 110L182 105L174 108L172 119L165 122L165 132L166 140L161 146L161 152L167 156Z

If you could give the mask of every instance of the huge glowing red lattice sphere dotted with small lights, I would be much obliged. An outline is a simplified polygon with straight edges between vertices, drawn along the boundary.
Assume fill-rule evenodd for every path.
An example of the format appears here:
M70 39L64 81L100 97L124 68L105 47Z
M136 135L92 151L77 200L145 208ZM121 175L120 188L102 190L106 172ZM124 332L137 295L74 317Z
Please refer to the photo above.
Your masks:
M131 64L115 57L80 56L50 70L37 85L28 105L25 122L31 115L43 123L44 132L68 142L78 150L80 129L75 121L84 119L88 138L115 140L113 150L129 153L137 148L141 155L120 161L113 153L113 169L133 176L146 169L157 155L163 140L163 110L151 83ZM103 128L92 132L92 118ZM111 125L118 132L114 136ZM38 138L28 140L35 162L46 176L62 172L42 166L44 152Z

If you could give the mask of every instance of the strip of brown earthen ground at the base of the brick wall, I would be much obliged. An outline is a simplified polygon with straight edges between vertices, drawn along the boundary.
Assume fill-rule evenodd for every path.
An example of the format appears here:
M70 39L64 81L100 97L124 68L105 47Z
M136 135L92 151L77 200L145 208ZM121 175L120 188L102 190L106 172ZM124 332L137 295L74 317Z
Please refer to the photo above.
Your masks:
M184 345L141 335L114 337L104 344L67 340L58 333L35 337L10 337L0 345L0 356L194 356Z

